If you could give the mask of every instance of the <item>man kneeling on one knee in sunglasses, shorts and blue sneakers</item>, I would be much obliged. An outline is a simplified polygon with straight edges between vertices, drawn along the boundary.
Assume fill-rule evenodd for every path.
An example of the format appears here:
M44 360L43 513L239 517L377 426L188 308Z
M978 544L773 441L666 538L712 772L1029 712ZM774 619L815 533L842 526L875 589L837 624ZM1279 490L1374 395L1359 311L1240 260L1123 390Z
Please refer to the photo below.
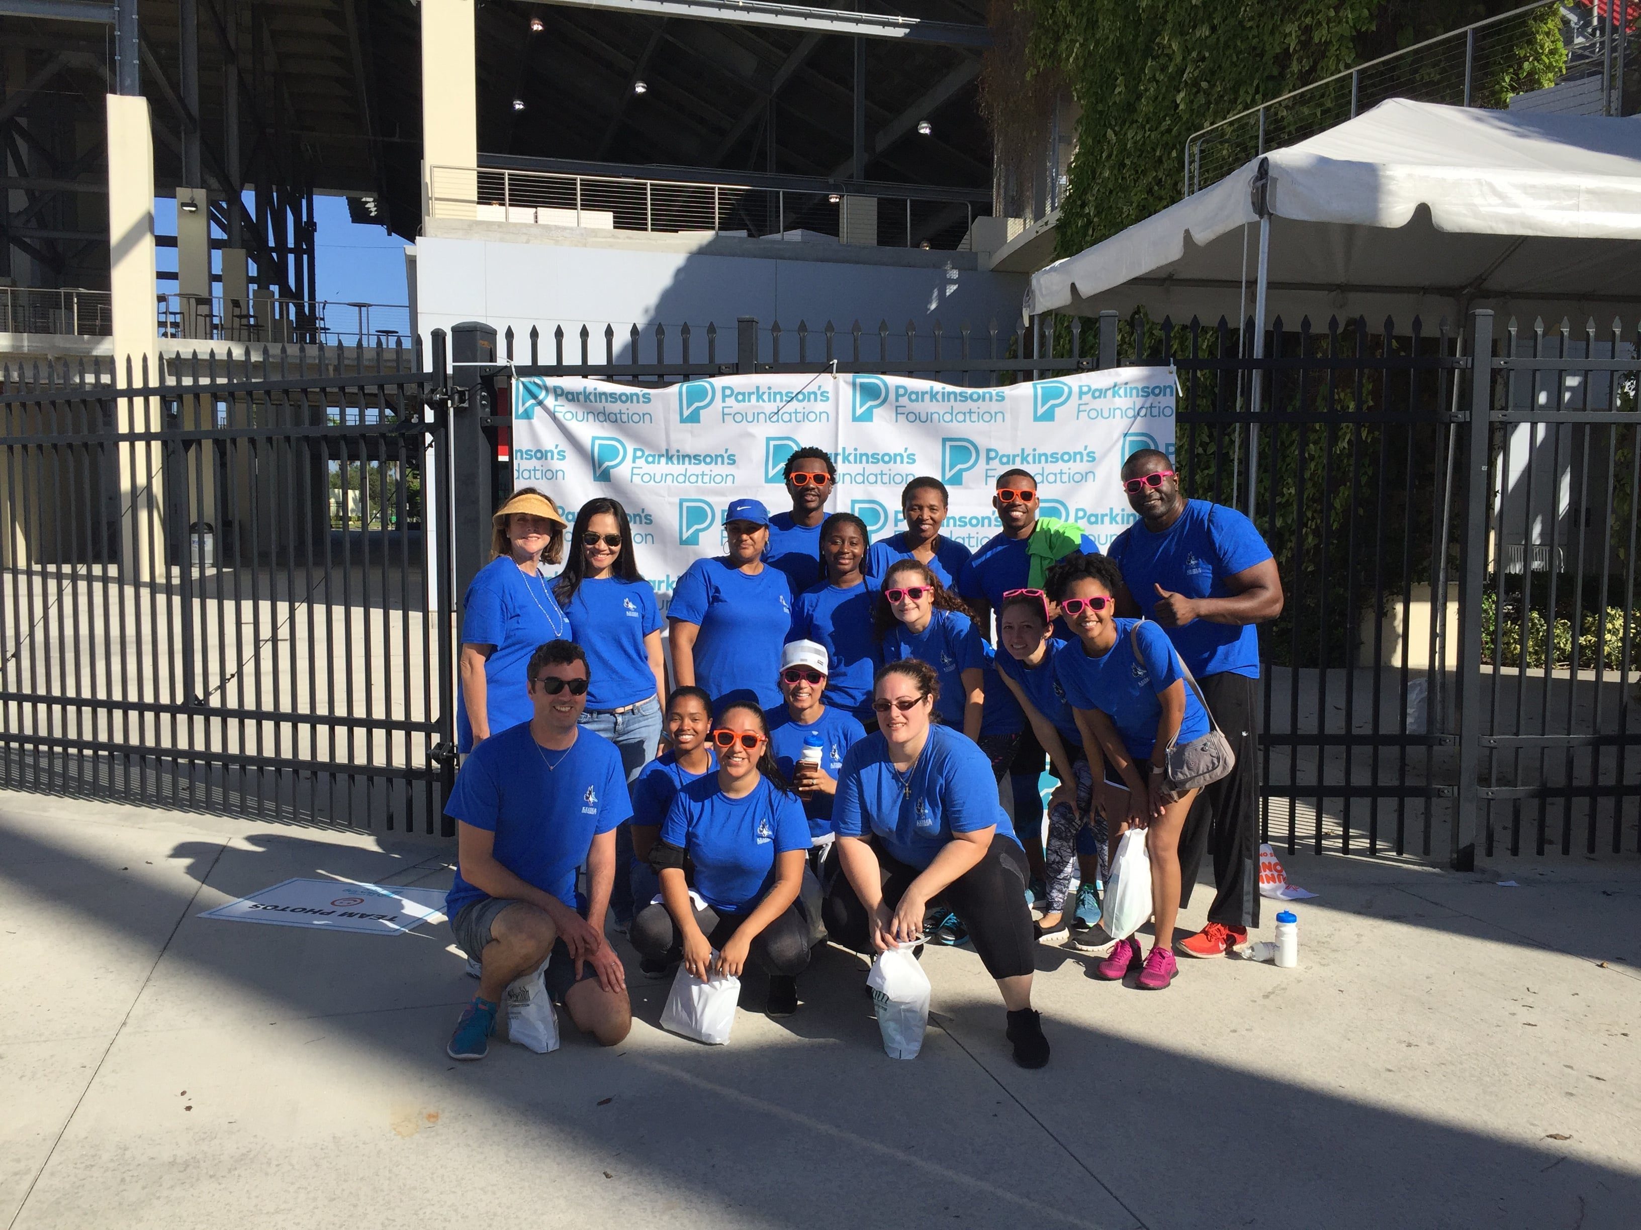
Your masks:
M484 1058L507 984L542 961L548 994L578 1030L614 1046L632 1028L627 974L604 938L615 827L632 818L620 751L578 725L587 704L579 645L548 641L527 677L535 717L473 749L445 809L459 822L445 912L481 966L479 994L446 1048L453 1059Z

